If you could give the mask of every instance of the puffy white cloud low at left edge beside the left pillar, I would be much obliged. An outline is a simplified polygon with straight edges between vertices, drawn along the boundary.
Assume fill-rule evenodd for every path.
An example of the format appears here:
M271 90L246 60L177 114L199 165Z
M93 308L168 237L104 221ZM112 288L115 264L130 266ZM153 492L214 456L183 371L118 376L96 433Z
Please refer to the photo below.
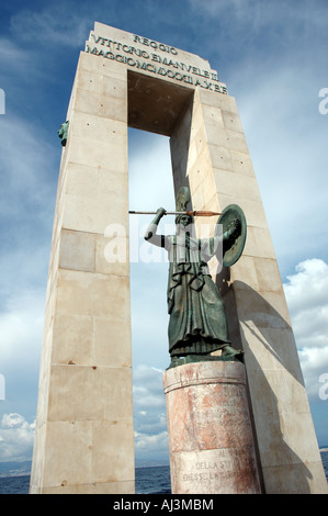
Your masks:
M27 423L16 413L3 414L0 424L0 461L30 460L34 433L35 422Z

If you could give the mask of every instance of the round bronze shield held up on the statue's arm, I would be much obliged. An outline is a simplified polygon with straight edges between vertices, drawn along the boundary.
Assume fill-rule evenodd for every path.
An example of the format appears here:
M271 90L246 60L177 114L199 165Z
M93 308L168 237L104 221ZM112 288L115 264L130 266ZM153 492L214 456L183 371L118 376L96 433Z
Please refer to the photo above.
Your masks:
M229 240L228 243L224 242L223 265L225 267L230 267L236 263L244 250L247 235L246 217L244 211L240 206L238 206L238 204L229 204L224 209L216 223L223 225L223 233L225 233L231 227L231 223L236 218L240 221L238 235L235 237L235 239Z

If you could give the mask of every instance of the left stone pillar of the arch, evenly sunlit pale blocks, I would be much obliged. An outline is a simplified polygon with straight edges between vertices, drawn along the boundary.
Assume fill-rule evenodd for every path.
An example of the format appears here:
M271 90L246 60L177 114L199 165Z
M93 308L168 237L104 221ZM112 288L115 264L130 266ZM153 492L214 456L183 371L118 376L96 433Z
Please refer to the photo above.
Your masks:
M58 181L31 493L134 492L129 262L106 260L105 233L110 223L125 227L128 257L126 91L124 67L81 53Z

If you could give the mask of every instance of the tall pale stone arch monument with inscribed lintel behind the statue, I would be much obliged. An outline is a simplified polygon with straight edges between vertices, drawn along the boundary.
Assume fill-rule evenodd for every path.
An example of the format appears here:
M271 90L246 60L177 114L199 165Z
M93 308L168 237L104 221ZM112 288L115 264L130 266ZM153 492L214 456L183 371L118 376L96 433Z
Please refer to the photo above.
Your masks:
M134 493L129 263L104 258L109 224L128 248L128 126L170 137L193 210L242 207L242 257L217 281L245 352L261 491L326 492L236 101L201 57L95 23L60 132L31 493Z

